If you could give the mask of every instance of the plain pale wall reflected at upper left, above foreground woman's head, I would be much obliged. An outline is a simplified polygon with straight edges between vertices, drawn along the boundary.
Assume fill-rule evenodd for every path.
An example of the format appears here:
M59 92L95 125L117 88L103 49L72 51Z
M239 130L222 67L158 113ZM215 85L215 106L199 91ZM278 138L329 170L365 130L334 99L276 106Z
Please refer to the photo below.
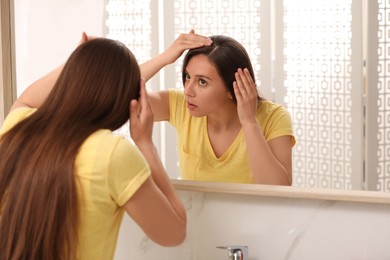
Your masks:
M104 4L97 0L14 0L18 96L33 81L65 63L83 31L104 35Z

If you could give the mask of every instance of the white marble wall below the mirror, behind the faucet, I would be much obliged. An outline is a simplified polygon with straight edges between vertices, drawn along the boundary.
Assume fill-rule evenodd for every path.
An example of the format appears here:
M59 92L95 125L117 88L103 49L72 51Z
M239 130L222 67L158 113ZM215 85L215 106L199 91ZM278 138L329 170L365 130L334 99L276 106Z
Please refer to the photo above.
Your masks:
M180 191L188 234L163 248L127 216L116 260L218 260L246 245L249 260L390 259L390 204Z

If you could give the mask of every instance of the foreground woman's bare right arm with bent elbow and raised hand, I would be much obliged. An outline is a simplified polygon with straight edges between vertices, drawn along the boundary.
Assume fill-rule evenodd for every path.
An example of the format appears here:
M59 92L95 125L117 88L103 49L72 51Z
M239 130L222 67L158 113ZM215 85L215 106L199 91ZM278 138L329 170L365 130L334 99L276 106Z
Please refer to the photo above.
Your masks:
M143 81L140 94L139 102L131 102L130 132L152 176L125 204L125 209L153 241L164 246L178 245L186 234L186 212L152 142L153 113Z

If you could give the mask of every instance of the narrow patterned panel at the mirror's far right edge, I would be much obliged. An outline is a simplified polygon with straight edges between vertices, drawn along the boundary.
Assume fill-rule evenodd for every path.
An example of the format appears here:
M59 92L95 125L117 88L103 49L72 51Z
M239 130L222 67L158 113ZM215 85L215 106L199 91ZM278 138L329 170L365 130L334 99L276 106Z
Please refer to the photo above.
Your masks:
M367 188L390 191L390 3L367 9Z

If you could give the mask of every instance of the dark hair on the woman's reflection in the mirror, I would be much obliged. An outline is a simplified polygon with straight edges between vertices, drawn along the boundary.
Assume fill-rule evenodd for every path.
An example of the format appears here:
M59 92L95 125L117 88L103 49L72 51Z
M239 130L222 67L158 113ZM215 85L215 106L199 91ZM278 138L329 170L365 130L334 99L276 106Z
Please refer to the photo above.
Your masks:
M186 67L190 59L199 54L206 55L209 61L215 64L219 75L226 85L226 88L232 95L234 102L236 102L237 100L234 95L233 82L236 80L234 73L237 72L237 69L247 68L253 81L256 82L249 55L245 48L231 37L214 35L211 36L210 39L213 41L210 46L191 49L187 52L184 57L182 68L183 84L185 82ZM259 100L262 99L259 97Z

